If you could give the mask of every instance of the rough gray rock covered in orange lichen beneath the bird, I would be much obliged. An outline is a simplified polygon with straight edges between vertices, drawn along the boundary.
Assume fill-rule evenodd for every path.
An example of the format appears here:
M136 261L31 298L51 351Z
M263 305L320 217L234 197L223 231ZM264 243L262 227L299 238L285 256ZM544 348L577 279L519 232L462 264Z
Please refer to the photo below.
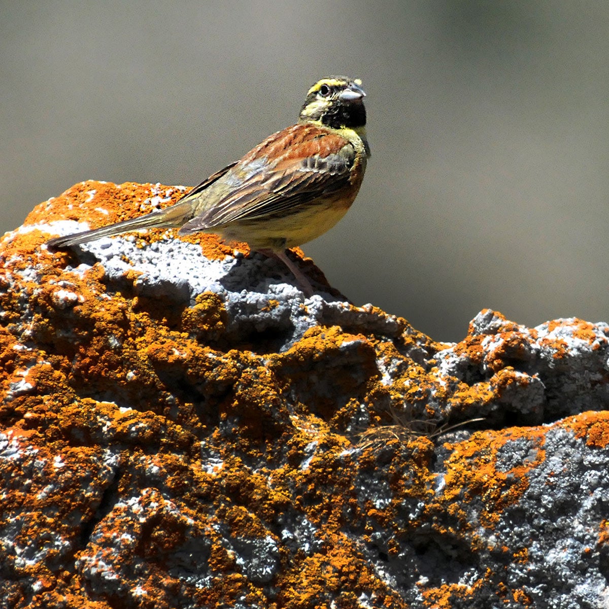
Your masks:
M0 243L1 607L609 606L609 326L436 343L300 252L306 300L213 236L43 245L182 191Z

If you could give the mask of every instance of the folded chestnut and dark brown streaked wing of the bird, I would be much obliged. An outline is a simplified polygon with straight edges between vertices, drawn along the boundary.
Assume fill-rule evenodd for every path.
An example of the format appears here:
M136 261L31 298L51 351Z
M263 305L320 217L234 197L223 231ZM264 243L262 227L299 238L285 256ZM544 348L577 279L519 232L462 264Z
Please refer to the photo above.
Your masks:
M288 127L248 152L225 176L227 194L180 233L288 214L347 186L355 157L348 139L322 127Z

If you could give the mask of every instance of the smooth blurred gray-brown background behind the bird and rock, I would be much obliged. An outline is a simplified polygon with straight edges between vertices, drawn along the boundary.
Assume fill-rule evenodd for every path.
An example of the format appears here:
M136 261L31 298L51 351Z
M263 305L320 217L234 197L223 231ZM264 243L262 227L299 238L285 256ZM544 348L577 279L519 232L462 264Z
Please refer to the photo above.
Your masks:
M0 233L80 180L195 185L361 77L373 157L304 246L458 340L484 307L609 322L609 2L0 5Z

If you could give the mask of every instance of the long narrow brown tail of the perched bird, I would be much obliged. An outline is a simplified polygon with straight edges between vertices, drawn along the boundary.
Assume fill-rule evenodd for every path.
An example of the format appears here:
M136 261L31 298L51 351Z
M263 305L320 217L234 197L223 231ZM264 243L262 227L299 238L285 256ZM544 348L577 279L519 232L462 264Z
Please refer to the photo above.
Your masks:
M101 239L102 237L111 237L116 234L128 233L132 230L140 230L141 228L181 227L191 217L192 203L190 201L183 201L160 211L153 211L150 214L146 214L146 216L116 222L116 224L110 224L107 227L86 230L82 233L67 234L63 237L55 237L54 239L49 239L46 244L51 248L63 249L71 245L96 241L96 239Z

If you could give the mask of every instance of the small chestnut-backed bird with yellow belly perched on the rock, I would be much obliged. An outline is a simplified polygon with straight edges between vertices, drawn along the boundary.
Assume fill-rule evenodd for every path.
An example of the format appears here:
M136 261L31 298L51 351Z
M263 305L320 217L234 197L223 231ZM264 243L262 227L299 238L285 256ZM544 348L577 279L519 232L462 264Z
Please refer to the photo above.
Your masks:
M353 203L370 157L364 96L359 79L323 78L309 89L295 125L273 133L174 205L47 245L62 249L143 228L214 233L283 261L309 297L311 283L286 248L325 233Z

